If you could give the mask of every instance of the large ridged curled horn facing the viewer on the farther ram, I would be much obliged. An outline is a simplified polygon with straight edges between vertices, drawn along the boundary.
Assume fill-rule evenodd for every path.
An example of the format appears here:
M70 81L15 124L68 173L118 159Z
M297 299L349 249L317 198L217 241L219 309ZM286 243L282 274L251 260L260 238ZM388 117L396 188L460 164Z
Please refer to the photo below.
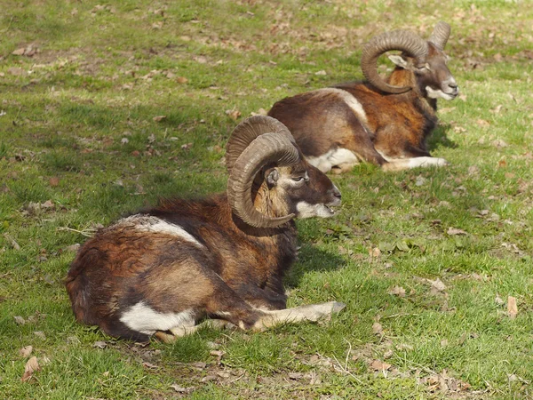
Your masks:
M410 57L424 60L427 55L427 44L420 36L409 30L399 29L373 37L362 49L361 69L370 84L382 92L403 93L409 91L409 86L393 86L387 84L378 74L378 57L390 50L401 50Z

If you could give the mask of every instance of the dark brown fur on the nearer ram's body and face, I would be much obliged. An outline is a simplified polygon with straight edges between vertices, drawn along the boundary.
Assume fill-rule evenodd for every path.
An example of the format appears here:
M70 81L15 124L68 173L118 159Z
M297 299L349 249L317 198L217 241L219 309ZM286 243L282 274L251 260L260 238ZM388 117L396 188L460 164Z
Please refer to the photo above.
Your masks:
M305 161L279 170L289 181L302 172L310 179L298 189L282 183L269 188L264 180L254 196L258 209L269 216L296 212L302 199L339 203L338 189ZM259 322L267 311L259 308L286 307L282 277L296 257L293 221L280 228L252 228L235 216L226 195L164 200L141 215L99 230L76 255L66 286L78 321L99 324L112 336L147 340L147 332L121 319L141 302L161 315L187 311L195 322L214 316L245 329L267 326ZM184 236L143 230L139 218L178 226L200 245Z

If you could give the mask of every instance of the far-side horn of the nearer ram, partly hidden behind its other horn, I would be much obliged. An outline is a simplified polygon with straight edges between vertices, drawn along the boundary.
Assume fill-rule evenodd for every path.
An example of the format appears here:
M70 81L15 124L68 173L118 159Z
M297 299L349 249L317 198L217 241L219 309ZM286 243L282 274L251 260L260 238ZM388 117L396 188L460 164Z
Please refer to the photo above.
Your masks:
M260 135L267 133L282 133L286 135L292 143L296 143L287 127L272 116L251 116L238 124L232 132L226 145L226 167L227 172L231 172L235 161L251 141Z

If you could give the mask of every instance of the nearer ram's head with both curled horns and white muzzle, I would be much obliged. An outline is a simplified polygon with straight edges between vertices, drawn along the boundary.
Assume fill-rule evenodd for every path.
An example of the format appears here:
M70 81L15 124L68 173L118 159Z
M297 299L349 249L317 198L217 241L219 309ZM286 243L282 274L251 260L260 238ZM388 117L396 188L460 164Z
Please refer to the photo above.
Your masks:
M226 164L229 204L252 227L330 217L340 204L338 188L307 163L287 127L270 116L252 116L235 128Z

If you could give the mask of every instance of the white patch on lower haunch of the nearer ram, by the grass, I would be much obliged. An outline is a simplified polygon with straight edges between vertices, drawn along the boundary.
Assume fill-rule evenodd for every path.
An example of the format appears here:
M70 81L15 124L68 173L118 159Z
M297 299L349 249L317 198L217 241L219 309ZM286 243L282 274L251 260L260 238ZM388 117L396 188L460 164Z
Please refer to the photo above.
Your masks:
M176 314L163 314L155 311L154 308L149 308L144 301L139 301L124 312L120 321L132 331L147 335L154 334L155 331L169 331L177 327L195 326L191 309Z

